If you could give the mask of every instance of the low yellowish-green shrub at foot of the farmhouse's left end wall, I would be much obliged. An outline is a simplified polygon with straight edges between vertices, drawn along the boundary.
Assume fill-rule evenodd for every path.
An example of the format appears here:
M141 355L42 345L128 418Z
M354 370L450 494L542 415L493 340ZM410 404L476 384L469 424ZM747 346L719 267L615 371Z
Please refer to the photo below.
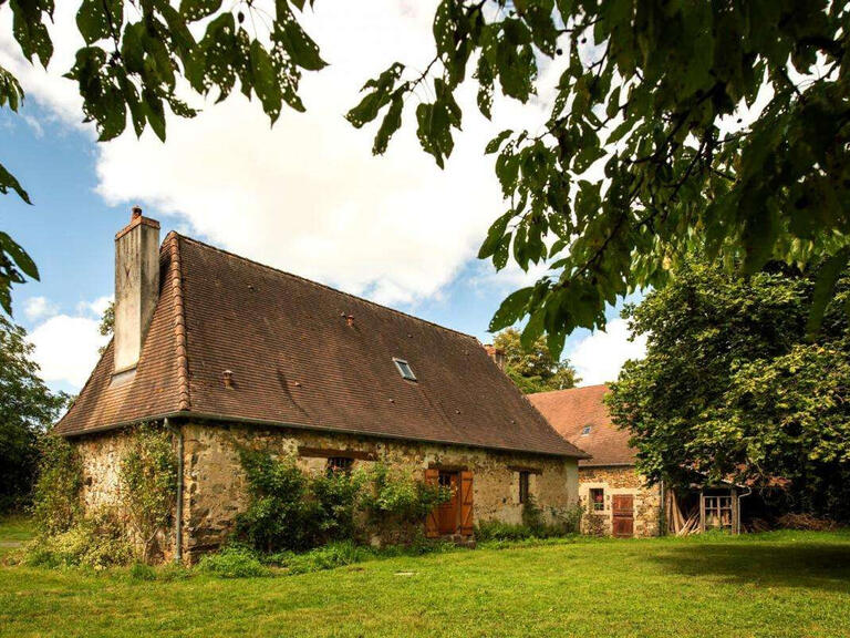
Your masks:
M64 532L37 537L27 546L23 556L27 565L54 568L105 569L128 565L133 559L133 546L114 512L108 510L82 518Z

